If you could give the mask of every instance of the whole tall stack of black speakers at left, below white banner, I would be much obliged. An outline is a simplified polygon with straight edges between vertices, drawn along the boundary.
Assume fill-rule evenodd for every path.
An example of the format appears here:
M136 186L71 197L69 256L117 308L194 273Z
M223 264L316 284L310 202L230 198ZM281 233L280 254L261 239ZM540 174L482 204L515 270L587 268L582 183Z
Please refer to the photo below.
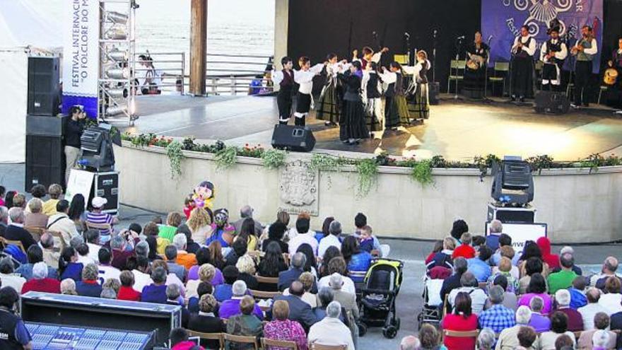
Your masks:
M28 57L25 190L64 185L62 120L59 113L59 58Z

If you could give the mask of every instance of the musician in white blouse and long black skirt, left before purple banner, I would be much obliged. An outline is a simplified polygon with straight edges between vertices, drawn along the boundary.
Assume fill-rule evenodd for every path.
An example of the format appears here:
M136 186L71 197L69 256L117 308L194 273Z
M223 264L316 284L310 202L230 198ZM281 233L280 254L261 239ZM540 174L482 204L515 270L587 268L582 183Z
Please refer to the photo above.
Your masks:
M529 36L529 27L523 25L520 28L520 36L512 45L512 101L518 97L524 102L524 97L529 92L534 75L534 53L536 52L536 40Z

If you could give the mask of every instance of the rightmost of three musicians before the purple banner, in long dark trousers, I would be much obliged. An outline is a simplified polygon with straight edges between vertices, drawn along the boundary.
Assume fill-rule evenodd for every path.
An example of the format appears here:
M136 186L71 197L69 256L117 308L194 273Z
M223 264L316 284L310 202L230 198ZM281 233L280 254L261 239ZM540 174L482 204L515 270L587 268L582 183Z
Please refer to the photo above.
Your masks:
M589 106L589 77L592 76L592 59L598 53L598 45L594 39L592 27L581 28L582 38L570 52L576 55L575 63L575 107Z

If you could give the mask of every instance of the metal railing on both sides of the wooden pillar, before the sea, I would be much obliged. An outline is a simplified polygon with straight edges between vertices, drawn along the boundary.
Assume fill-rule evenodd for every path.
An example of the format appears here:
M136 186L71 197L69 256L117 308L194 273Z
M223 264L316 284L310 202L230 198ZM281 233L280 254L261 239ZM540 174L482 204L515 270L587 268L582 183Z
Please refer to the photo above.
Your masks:
M149 69L142 66L138 57L148 54L161 76L161 91L187 92L185 52L137 52L136 77L142 83ZM262 95L274 91L272 81L266 76L272 57L241 54L208 54L206 60L206 93L210 95Z

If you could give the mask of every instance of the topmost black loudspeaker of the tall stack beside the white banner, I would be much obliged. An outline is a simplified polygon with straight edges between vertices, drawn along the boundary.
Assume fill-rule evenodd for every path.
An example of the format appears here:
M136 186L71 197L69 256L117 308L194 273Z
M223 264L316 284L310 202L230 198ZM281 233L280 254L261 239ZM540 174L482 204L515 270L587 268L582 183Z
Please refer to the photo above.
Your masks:
M59 58L28 57L28 115L58 115Z

